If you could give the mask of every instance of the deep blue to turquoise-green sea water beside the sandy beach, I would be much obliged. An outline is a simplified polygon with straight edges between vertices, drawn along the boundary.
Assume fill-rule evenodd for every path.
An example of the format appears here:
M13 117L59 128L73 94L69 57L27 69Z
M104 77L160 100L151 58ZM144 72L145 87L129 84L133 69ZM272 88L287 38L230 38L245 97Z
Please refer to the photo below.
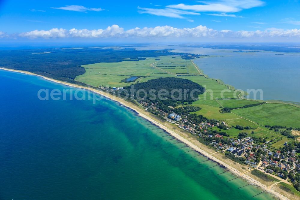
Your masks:
M0 83L1 200L273 199L116 102L41 101L70 88L14 72Z

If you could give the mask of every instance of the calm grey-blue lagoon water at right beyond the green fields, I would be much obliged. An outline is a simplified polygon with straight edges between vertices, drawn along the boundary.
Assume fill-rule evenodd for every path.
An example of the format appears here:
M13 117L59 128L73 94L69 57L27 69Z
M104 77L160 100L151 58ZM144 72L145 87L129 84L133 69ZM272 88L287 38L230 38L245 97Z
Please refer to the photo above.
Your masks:
M236 89L261 89L263 100L300 104L300 53L253 52L255 50L239 53L233 52L238 50L207 48L183 48L176 51L211 55L195 59L194 62L208 77L220 79Z

